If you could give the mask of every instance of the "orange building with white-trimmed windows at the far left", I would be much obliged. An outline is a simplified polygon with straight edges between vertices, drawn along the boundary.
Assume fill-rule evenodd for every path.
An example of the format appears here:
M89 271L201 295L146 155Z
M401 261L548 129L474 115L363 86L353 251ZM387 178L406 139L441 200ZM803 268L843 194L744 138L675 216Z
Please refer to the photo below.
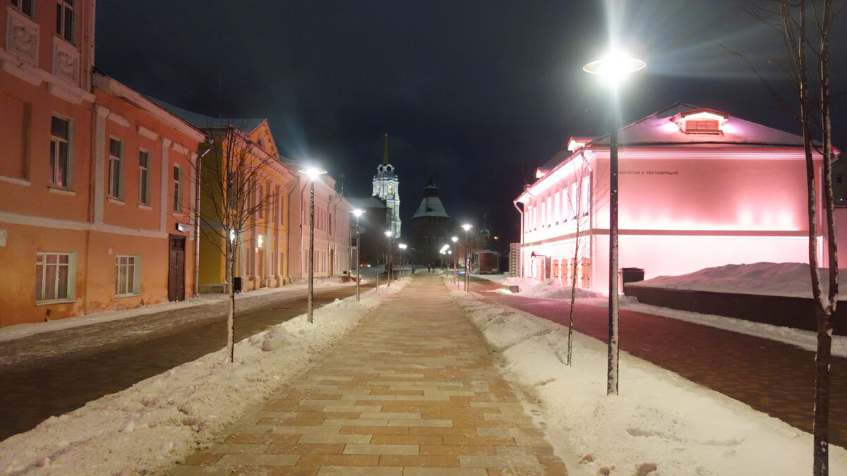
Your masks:
M202 134L94 71L94 6L0 10L0 326L192 296Z

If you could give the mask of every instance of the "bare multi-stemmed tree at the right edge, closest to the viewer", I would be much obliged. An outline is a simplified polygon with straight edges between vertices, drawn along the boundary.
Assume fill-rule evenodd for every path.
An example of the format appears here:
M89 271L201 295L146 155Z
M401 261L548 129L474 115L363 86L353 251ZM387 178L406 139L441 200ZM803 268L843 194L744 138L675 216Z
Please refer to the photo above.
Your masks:
M829 473L829 393L830 361L835 307L839 295L838 249L835 236L835 214L832 180L832 123L830 119L829 39L833 20L844 8L844 2L834 0L770 0L748 11L766 25L771 25L783 37L794 86L796 106L789 108L803 131L806 188L809 217L809 271L811 291L815 302L817 322L817 351L815 354L815 409L813 418L813 474ZM750 62L748 61L748 64ZM752 64L751 64L752 66ZM817 70L817 72L816 72ZM754 67L758 75L758 71ZM761 75L759 75L761 78ZM775 88L762 81L768 89ZM783 102L785 105L786 102ZM818 141L819 140L819 141ZM817 191L815 188L814 155L822 157L822 199L826 220L828 257L828 292L824 295L817 262Z

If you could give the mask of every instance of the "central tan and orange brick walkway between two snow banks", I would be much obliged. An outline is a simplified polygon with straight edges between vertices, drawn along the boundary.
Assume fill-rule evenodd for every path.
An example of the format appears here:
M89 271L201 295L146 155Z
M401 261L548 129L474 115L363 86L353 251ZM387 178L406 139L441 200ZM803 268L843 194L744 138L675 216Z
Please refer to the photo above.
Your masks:
M440 276L418 275L174 475L567 474Z

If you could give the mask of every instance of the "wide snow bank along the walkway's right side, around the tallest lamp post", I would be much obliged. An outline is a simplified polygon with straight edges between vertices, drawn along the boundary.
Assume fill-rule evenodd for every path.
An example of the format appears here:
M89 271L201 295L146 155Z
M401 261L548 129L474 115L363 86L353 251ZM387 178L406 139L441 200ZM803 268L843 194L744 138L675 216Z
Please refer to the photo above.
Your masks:
M811 434L678 374L621 352L619 396L606 396L606 344L454 291L501 357L501 371L537 407L556 456L572 474L804 474ZM847 451L830 446L830 473L847 474Z

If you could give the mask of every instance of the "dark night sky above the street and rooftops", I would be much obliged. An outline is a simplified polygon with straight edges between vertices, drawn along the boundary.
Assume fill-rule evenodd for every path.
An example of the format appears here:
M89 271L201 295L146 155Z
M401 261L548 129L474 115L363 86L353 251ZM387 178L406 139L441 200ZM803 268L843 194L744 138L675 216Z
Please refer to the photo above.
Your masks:
M742 2L741 4L745 4ZM95 64L136 91L224 118L267 118L286 157L369 196L389 134L403 230L433 174L454 219L518 239L512 200L570 136L607 133L582 71L614 35L647 68L628 124L691 102L798 131L738 55L778 88L779 36L732 0L145 0L97 3ZM845 90L844 15L833 91ZM767 61L771 63L768 64ZM834 110L843 144L845 98Z

